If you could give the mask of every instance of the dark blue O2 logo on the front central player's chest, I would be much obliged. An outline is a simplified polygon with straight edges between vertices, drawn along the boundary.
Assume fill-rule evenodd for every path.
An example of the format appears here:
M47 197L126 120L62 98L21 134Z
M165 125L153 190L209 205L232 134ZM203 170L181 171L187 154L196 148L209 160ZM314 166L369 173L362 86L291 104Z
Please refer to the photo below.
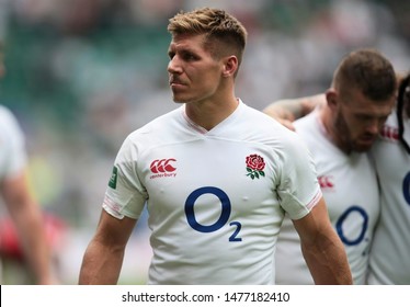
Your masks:
M204 194L213 194L217 196L220 201L221 209L220 209L220 216L218 220L216 220L212 225L202 225L196 220L195 217L195 212L194 212L194 206L196 200L204 195ZM215 186L204 186L195 190L187 196L186 202L185 202L185 215L186 215L186 220L187 224L195 229L196 231L200 232L213 232L216 230L219 230L223 228L229 220L231 212L231 205L230 205L230 200L228 195L220 189L215 187ZM242 241L242 238L238 237L240 229L242 228L242 225L239 221L231 221L229 226L234 226L235 230L234 234L229 237L230 242L236 242L236 241Z

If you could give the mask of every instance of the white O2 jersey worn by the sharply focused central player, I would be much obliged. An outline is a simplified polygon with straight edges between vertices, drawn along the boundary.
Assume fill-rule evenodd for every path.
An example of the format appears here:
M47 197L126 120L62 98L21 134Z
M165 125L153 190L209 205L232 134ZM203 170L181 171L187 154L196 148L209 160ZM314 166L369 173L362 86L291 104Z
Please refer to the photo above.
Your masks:
M103 207L149 213L149 284L273 284L284 213L301 218L321 196L299 137L241 101L207 132L185 106L132 133Z

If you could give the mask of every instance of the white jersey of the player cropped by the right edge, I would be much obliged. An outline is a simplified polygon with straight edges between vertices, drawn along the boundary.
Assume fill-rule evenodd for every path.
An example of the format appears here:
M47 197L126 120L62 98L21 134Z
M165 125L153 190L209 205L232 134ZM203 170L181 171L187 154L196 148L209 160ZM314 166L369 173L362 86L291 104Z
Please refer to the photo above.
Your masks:
M410 120L405 121L410 144ZM410 155L398 140L396 111L372 148L381 186L380 220L371 252L369 284L410 285Z

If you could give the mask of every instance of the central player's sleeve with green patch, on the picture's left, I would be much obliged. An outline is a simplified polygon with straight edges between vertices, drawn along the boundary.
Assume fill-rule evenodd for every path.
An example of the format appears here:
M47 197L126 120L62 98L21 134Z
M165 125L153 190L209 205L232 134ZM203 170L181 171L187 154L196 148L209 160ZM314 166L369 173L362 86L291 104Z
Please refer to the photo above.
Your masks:
M138 219L148 194L137 174L137 150L132 139L125 139L114 162L105 191L103 208L116 218Z

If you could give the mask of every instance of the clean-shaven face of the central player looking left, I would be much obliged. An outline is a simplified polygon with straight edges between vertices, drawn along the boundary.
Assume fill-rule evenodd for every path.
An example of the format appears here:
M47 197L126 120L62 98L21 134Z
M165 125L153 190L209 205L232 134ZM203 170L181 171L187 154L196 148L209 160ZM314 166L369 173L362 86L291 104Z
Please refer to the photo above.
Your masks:
M205 35L175 35L169 46L169 83L175 102L204 102L218 94L223 59L205 49Z

